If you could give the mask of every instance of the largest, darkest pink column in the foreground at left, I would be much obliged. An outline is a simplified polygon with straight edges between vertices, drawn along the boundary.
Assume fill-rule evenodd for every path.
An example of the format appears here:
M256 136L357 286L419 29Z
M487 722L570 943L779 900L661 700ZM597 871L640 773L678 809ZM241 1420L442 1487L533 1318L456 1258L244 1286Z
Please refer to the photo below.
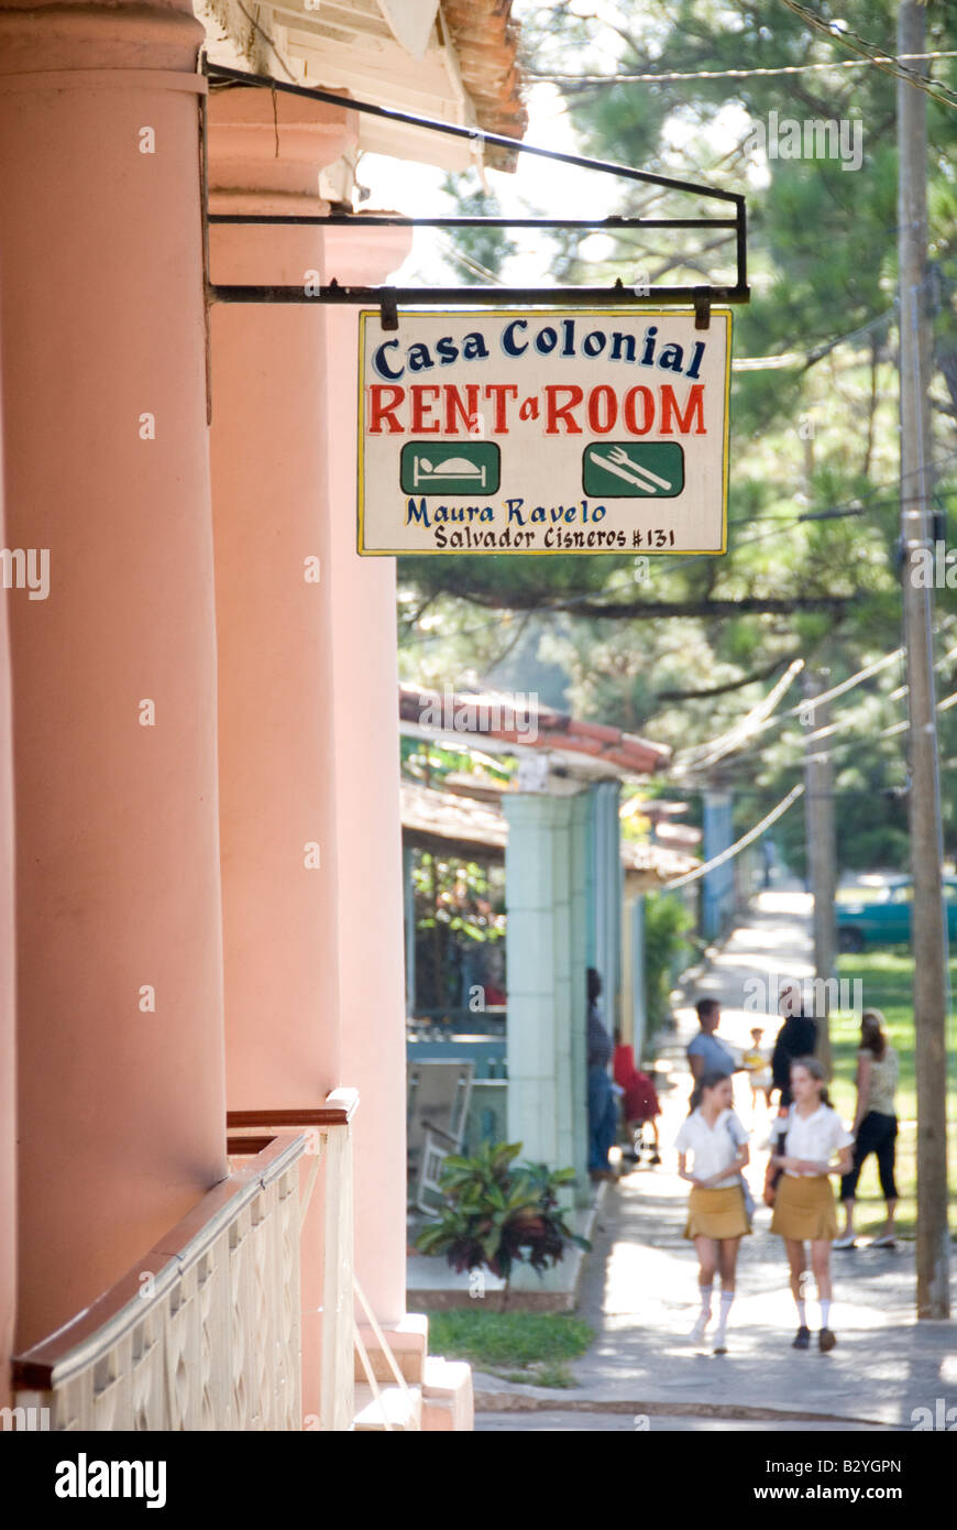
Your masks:
M20 1346L226 1172L200 40L0 9Z

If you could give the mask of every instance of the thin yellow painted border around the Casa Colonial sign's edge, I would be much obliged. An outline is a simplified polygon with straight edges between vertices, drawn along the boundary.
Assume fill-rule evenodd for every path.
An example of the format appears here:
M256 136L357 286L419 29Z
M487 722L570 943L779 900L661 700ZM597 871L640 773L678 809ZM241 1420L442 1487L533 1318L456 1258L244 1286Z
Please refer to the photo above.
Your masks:
M694 309L691 308L642 308L636 304L621 304L619 308L564 308L556 304L555 308L404 308L397 309L399 318L413 318L416 315L428 318L463 318L468 315L475 315L478 318L508 318L514 314L541 314L556 315L569 314L575 318L615 318L621 314L639 314L642 318L691 318L694 317ZM622 548L367 548L365 546L365 482L364 482L364 453L362 444L365 439L365 321L370 318L379 318L378 308L362 308L359 309L359 401L356 412L356 554L361 558L448 558L448 557L466 557L466 558L575 558L575 557L608 557L613 554L616 557L624 557L625 551ZM712 308L711 321L715 318L725 318L728 321L728 343L725 347L725 439L722 441L722 545L720 548L641 548L641 557L703 557L703 558L720 558L728 552L728 459L729 459L729 444L731 444L731 343L734 338L732 311L729 308ZM627 549L634 551L634 549Z

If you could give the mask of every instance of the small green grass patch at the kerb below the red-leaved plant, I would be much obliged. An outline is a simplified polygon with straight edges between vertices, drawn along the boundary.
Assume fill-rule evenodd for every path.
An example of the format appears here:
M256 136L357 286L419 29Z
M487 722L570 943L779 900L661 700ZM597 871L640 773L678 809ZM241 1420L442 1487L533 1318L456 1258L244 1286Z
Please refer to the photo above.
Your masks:
M428 1314L433 1354L468 1360L506 1382L537 1386L575 1386L567 1362L584 1354L593 1339L593 1328L564 1313L491 1313L477 1307L454 1307Z

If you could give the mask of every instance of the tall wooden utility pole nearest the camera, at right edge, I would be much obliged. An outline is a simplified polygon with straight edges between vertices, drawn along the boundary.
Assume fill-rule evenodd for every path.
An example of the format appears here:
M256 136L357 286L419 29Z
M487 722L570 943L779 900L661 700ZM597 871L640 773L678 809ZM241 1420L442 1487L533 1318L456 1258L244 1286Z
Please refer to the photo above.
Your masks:
M925 8L900 0L897 54L925 49ZM917 1076L917 1317L949 1317L946 1184L946 929L934 698L933 591L917 578L933 542L926 282L926 96L897 81L900 269L900 542L910 707L910 834L914 877L914 1065Z

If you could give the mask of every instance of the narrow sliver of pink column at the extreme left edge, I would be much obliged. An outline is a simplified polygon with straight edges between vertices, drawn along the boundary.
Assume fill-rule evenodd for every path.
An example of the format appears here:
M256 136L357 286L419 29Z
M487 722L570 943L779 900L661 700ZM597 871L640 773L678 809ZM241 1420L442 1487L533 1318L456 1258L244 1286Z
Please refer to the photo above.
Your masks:
M0 542L5 540L0 483ZM14 933L14 773L8 606L24 591L0 592L0 1408L8 1408L17 1313L17 1056Z

